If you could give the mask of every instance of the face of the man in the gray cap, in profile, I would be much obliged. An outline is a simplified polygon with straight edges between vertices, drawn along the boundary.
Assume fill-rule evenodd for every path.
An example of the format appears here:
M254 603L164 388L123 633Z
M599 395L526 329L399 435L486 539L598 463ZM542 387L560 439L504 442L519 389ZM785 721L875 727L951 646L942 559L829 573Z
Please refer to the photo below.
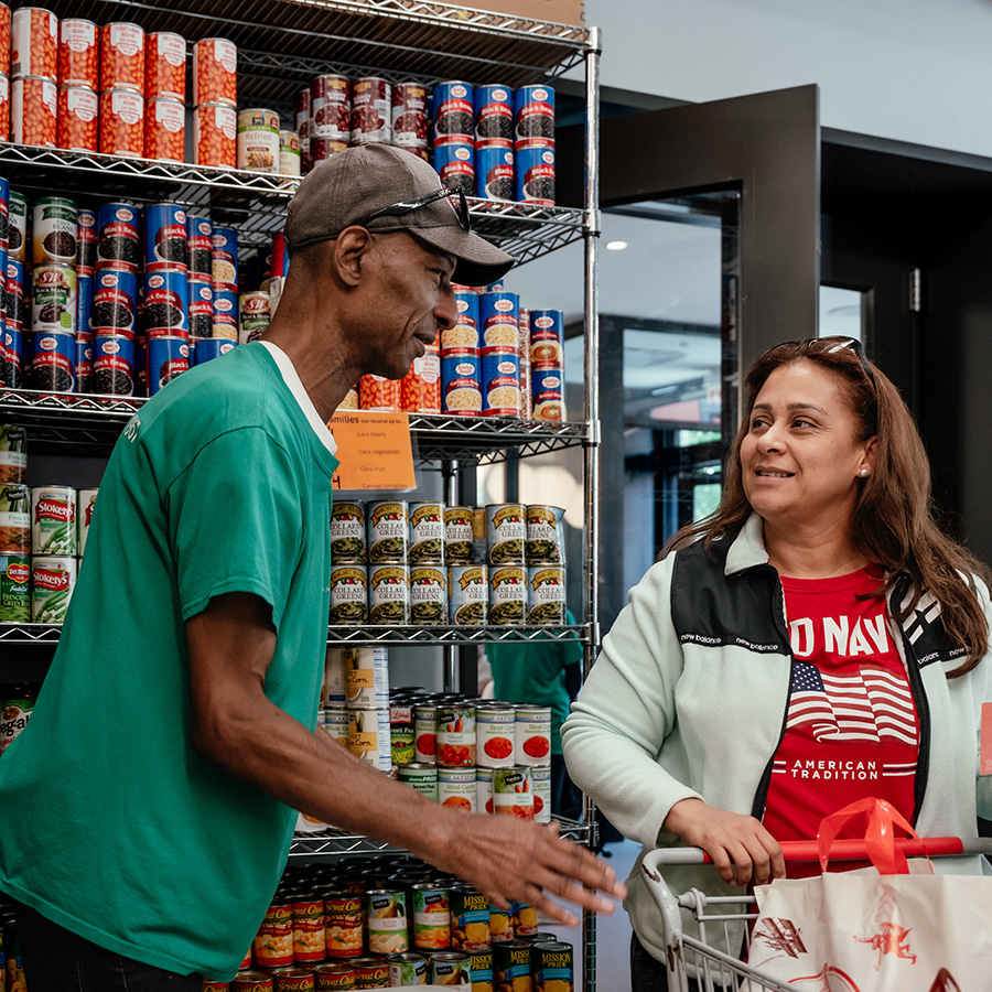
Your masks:
M457 320L451 288L455 258L405 233L377 235L374 250L363 365L375 375L401 379L438 331Z

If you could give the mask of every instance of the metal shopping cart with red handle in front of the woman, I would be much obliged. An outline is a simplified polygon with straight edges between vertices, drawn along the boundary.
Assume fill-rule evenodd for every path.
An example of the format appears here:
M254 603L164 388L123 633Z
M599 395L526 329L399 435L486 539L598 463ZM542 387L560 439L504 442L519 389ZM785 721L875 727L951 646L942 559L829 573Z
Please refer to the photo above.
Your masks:
M897 840L896 845L907 858L942 858L960 854L992 855L992 839L957 837ZM781 845L787 862L819 862L816 841L791 841ZM866 861L864 841L838 840L830 850L830 862ZM671 992L689 992L690 975L700 992L796 992L787 985L752 968L740 957L733 957L716 948L715 944L731 947L731 934L743 925L744 947L750 947L750 921L757 919L757 905L753 895L708 896L698 888L678 895L665 878L665 865L709 864L710 856L702 848L662 848L650 851L641 862L641 871L648 891L661 912L665 935L668 986ZM692 914L699 937L683 932L681 910ZM734 938L736 939L736 938ZM745 955L746 957L746 955Z

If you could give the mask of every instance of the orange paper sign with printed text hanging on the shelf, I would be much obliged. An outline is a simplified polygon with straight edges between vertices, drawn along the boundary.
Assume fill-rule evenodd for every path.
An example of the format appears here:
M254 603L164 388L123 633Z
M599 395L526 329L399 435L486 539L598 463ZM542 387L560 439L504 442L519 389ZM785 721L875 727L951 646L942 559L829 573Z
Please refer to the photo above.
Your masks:
M406 413L343 411L327 421L341 466L335 489L412 489L413 448Z

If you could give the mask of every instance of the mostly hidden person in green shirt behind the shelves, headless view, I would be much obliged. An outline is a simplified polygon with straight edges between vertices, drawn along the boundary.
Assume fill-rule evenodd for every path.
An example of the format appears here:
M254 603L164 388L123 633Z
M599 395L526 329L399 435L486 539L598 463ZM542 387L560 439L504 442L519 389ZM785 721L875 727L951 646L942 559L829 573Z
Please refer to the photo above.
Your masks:
M574 624L571 610L565 623ZM494 698L551 708L551 811L582 819L582 794L569 778L561 755L561 725L582 684L582 645L565 640L503 640L486 645Z

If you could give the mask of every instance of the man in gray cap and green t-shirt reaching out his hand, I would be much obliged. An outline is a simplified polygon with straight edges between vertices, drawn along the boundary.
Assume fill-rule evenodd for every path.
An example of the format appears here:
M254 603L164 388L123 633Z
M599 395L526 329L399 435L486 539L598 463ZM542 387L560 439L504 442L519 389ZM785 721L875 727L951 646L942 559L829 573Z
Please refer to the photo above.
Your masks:
M430 166L371 145L309 175L263 339L169 385L125 429L31 723L0 762L0 889L32 992L229 979L301 810L407 848L497 899L571 918L622 886L589 852L466 816L314 732L330 590L326 421L456 319L453 278L513 259ZM576 884L581 883L581 884Z

